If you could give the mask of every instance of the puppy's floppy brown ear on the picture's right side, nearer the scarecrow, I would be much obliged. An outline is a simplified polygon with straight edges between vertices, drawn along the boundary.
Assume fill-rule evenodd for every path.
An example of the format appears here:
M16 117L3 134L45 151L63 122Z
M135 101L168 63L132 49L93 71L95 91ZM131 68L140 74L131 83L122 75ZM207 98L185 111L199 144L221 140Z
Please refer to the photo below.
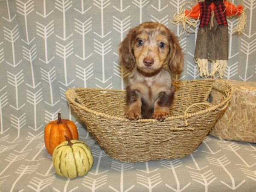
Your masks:
M184 54L180 47L177 36L171 31L169 36L169 43L170 43L170 54L168 57L169 59L168 67L173 73L179 74L183 71Z

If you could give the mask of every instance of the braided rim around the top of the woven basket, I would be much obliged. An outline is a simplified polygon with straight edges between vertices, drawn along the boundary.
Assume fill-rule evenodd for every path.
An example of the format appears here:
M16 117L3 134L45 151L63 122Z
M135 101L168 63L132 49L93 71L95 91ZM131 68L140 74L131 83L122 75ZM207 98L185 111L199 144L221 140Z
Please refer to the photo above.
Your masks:
M193 112L193 113L184 113L183 115L177 115L177 116L169 116L168 118L164 119L163 122L170 122L174 119L183 119L186 120L190 117L193 116L197 116L200 115L202 113L207 113L209 111L214 111L217 108L225 108L225 106L228 105L229 101L231 100L232 96L233 96L233 86L228 83L227 81L224 81L222 79L194 79L194 80L186 80L186 81L176 81L177 83L190 83L190 82L195 82L195 81L211 81L211 82L215 82L215 81L219 81L223 84L228 84L230 87L230 94L220 103L218 103L217 105L211 105L209 108L205 109L205 110L201 110L198 112ZM76 96L76 91L77 90L98 90L98 91L108 91L108 92L125 92L125 90L118 90L118 89L102 89L102 88L86 88L86 87L77 87L77 88L69 88L66 91L66 97L68 99L69 102L71 102L73 105L76 105L76 107L80 108L81 110L84 110L87 113L92 113L95 116L100 116L103 117L105 119L110 119L110 120L119 120L119 121L125 121L125 122L134 122L134 123L140 123L140 122L159 122L157 119L138 119L138 120L129 120L127 118L125 118L125 116L123 117L118 117L118 116L113 116L113 115L109 115L107 113L102 113L102 112L98 112L92 109L89 109L87 107L84 107L83 105L77 103L75 101L76 98L73 98L74 96ZM75 94L74 94L75 92ZM225 104L226 103L226 104ZM224 107L223 107L224 106Z

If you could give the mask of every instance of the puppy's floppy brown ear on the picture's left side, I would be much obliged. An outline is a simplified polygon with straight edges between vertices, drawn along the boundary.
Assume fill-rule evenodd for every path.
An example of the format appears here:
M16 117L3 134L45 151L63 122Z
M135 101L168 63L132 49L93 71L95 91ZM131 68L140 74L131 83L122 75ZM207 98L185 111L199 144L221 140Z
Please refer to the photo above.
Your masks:
M119 45L119 59L128 70L131 70L136 63L133 50L135 33L136 28L131 29Z

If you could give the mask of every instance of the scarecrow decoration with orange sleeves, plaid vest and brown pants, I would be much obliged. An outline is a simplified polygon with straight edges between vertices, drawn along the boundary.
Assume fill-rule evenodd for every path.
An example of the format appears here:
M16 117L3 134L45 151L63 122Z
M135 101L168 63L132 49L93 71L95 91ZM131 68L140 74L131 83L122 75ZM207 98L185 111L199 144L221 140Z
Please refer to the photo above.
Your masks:
M233 33L242 35L246 25L246 15L241 5L235 6L227 0L194 0L190 10L181 6L180 13L174 15L177 25L181 23L188 33L194 33L200 20L196 46L195 63L200 69L200 76L215 77L215 73L222 78L227 67L228 59L228 26L227 17L237 16L239 22ZM173 22L172 22L173 23ZM212 63L208 72L208 60Z

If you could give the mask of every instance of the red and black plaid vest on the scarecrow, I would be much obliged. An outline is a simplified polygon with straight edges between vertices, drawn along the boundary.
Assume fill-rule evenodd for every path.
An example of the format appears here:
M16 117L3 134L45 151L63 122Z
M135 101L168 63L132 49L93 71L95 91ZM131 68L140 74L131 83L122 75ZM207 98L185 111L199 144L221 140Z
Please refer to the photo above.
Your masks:
M211 6L207 6L205 2L199 3L200 5L200 27L207 26L211 20ZM225 5L223 2L214 5L214 15L220 25L227 26Z

